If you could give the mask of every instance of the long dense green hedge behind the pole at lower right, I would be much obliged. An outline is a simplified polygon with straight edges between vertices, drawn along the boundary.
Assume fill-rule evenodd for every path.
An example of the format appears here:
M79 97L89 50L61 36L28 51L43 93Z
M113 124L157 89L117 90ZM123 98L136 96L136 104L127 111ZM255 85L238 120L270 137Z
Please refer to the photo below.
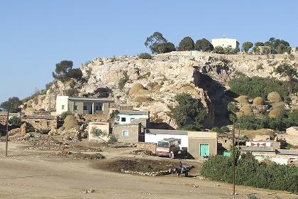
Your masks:
M232 183L233 157L211 156L204 162L201 174L214 181ZM251 154L236 156L236 184L257 188L298 192L298 168L258 163ZM285 180L286 179L286 180Z

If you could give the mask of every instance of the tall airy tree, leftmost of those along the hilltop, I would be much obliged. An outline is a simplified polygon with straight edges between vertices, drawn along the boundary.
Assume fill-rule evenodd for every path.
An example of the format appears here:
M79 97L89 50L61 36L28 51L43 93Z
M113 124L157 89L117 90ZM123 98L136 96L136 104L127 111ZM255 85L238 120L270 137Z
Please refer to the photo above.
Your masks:
M153 54L158 54L160 52L160 48L165 48L165 44L167 44L167 39L162 36L162 33L155 32L152 36L149 36L145 41L145 46L150 48Z

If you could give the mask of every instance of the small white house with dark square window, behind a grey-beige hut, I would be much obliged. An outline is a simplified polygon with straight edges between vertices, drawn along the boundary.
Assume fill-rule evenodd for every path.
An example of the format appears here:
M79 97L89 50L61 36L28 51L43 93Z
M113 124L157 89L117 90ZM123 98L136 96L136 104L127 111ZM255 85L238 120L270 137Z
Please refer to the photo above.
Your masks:
M149 119L148 111L135 111L135 110L118 110L116 111L115 123L116 124L130 124L136 119Z

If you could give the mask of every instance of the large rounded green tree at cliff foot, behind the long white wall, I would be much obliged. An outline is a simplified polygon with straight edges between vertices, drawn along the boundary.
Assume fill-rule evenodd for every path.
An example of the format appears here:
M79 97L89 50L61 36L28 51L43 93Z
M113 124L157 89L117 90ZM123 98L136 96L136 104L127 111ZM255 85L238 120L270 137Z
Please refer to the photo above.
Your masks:
M173 117L178 127L183 129L187 126L193 127L194 130L201 129L201 124L206 117L206 109L198 100L188 94L180 94L175 97L178 102L177 107L173 110Z

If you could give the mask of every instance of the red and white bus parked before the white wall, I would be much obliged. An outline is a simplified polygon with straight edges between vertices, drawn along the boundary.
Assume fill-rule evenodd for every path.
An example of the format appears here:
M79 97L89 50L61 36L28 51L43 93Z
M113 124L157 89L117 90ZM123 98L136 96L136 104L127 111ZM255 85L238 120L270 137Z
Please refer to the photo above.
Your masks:
M162 139L158 141L158 144L156 146L156 154L158 156L168 156L170 158L170 154L174 154L174 156L177 156L178 152L180 151L180 142L180 139L175 138Z

